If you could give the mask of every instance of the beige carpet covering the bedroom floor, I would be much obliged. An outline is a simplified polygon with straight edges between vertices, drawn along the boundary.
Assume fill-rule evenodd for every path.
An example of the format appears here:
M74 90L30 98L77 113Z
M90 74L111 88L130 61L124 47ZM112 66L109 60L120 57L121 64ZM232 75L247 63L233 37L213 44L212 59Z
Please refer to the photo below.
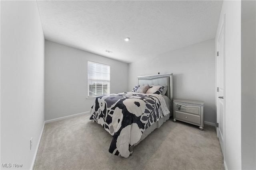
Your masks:
M215 127L172 119L140 142L129 158L108 152L112 136L89 115L47 123L34 170L220 170L223 156Z

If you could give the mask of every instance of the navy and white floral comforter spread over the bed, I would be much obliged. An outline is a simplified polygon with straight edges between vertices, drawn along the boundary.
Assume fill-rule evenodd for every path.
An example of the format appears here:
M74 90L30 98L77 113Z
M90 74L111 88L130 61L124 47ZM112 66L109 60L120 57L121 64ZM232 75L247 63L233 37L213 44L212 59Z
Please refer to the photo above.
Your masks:
M90 119L113 136L109 152L127 158L129 147L140 140L150 125L168 113L161 94L124 92L96 97Z

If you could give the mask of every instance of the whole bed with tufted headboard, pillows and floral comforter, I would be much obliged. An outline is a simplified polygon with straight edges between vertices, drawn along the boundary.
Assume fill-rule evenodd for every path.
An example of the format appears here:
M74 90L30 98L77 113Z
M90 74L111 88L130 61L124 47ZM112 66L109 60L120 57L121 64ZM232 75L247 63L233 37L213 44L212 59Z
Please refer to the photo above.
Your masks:
M109 152L126 158L173 112L172 73L139 76L137 80L132 92L98 96L90 109L90 119L113 136Z

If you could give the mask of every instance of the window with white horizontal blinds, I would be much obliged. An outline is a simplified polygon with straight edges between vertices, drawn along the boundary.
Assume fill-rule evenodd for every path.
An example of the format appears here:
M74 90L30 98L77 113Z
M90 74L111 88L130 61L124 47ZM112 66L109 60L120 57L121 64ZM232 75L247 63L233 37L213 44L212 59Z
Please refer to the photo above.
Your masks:
M88 97L110 93L110 66L88 61Z

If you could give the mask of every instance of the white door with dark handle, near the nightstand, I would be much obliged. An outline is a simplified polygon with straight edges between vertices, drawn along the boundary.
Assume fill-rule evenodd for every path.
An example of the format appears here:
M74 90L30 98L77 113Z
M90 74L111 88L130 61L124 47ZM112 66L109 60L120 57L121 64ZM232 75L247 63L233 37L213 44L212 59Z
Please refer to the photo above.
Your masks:
M217 33L217 136L225 153L225 18Z

